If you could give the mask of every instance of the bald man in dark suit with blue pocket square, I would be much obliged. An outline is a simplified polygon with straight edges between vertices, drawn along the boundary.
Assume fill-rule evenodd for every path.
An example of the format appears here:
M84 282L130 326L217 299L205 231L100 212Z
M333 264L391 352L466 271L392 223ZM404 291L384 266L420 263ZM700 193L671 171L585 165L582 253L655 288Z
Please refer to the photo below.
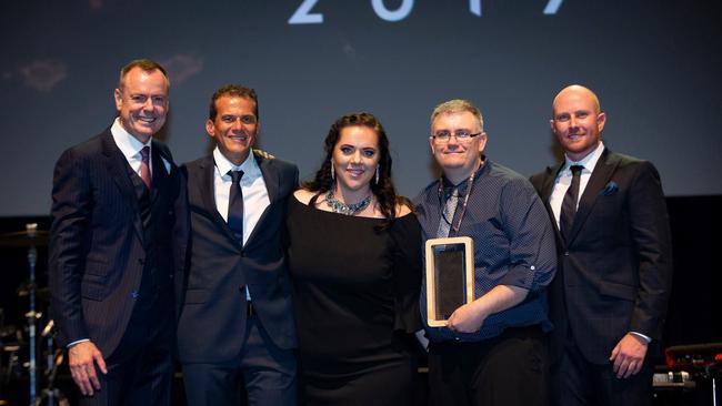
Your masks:
M550 288L552 397L559 405L651 403L672 281L671 238L654 166L608 150L606 114L581 85L554 99L565 159L531 177L558 225Z

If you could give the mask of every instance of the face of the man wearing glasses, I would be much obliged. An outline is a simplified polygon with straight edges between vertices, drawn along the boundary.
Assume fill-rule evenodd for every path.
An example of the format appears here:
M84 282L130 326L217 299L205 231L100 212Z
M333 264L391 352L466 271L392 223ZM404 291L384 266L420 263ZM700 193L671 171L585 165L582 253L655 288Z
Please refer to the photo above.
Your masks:
M460 141L457 136L451 136L447 141L434 138L429 140L434 159L444 175L454 184L471 176L481 164L481 152L487 145L487 133L481 130L479 120L469 111L439 114L431 125L432 134L441 131L454 134L459 130L481 134L465 141Z

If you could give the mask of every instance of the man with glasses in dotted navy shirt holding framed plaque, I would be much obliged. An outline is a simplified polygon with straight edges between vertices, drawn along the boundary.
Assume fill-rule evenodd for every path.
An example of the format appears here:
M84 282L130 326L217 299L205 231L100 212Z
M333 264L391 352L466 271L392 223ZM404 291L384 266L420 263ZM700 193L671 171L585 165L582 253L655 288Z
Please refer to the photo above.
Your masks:
M554 233L532 185L482 154L481 112L465 100L431 114L431 152L442 176L415 199L429 238L474 242L474 301L443 327L429 327L431 405L543 405L548 354L545 287L555 266Z

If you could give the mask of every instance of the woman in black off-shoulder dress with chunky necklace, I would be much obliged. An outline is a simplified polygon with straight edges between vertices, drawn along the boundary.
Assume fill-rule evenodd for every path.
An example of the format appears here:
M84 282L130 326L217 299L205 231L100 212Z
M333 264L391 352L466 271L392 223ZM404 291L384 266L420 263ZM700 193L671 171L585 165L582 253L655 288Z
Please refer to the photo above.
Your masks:
M421 328L419 222L395 194L372 114L337 120L325 153L288 209L301 404L408 405Z

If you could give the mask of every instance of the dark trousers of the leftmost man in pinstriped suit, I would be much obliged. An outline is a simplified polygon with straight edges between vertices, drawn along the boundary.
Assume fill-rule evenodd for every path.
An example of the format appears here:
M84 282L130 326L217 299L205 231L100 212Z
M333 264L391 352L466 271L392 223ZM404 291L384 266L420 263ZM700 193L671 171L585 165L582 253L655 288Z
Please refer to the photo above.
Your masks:
M81 395L81 406L170 405L176 339L172 288L141 297L120 344L112 354L103 354L108 374L96 367L100 390Z

